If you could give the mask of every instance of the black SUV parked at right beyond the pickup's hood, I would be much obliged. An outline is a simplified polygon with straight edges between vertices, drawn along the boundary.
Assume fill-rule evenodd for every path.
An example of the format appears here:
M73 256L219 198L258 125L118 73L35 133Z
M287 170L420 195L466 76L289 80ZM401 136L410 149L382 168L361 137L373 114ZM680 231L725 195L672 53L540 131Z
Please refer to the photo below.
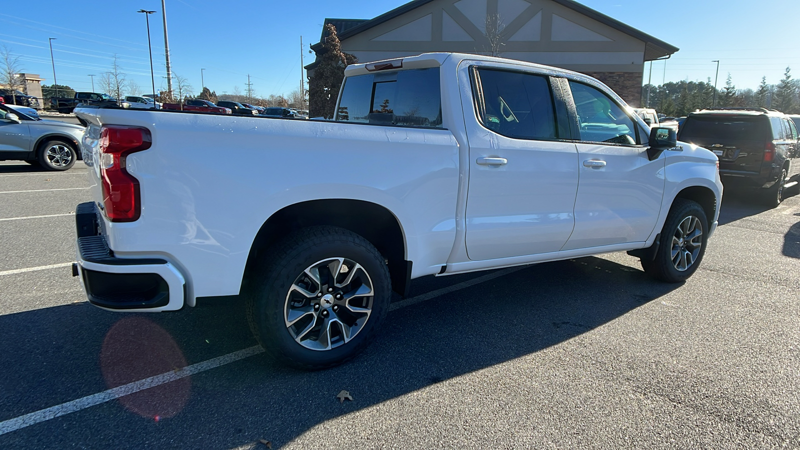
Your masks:
M798 128L777 110L706 108L686 118L678 140L713 151L726 187L757 189L770 207L800 179Z

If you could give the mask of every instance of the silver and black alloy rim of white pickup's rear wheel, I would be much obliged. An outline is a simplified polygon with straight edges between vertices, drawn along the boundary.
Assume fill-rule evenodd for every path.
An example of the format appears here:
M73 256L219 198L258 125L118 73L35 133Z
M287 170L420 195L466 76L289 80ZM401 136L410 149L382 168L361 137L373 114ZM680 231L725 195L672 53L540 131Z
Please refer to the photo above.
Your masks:
M311 264L286 294L284 323L292 338L311 350L330 350L352 340L372 313L374 290L364 267L346 258Z

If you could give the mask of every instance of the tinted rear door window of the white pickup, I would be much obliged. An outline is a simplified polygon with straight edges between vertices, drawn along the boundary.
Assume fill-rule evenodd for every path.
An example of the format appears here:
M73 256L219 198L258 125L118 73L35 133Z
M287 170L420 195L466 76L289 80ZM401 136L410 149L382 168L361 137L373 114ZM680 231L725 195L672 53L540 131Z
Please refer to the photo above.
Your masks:
M553 96L546 77L478 70L483 126L516 139L555 139Z

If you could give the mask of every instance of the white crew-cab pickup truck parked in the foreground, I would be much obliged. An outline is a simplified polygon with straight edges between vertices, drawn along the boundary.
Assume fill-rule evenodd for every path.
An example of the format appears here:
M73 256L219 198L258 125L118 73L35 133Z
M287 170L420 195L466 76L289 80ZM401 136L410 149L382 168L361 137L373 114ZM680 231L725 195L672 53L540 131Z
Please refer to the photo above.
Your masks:
M589 76L472 54L349 66L334 120L76 110L96 202L76 211L91 303L245 295L271 355L355 356L411 279L629 251L697 270L717 157Z

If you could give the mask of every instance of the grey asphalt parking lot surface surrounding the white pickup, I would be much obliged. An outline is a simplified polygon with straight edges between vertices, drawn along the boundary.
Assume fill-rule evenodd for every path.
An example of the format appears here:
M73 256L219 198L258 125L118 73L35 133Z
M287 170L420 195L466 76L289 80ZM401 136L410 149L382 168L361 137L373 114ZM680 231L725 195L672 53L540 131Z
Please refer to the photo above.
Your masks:
M800 448L800 197L726 198L684 284L625 254L419 279L362 356L298 372L237 299L87 303L86 171L0 163L0 448Z

